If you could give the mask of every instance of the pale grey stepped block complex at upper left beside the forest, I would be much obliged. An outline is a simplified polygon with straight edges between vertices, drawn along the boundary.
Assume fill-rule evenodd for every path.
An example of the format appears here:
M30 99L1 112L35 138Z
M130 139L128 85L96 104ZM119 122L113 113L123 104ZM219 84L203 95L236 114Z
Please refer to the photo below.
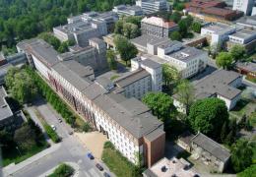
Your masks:
M61 41L74 40L82 47L89 45L89 39L109 32L118 16L113 12L90 12L68 18L68 24L53 28L54 35Z

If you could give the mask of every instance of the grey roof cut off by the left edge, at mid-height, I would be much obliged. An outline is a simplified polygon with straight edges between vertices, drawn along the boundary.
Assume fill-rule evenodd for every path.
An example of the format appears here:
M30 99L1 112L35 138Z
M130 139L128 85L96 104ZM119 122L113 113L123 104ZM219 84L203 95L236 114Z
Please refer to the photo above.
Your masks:
M2 86L0 86L0 120L4 120L6 118L13 116L13 112L5 100L6 96L7 93L5 89Z

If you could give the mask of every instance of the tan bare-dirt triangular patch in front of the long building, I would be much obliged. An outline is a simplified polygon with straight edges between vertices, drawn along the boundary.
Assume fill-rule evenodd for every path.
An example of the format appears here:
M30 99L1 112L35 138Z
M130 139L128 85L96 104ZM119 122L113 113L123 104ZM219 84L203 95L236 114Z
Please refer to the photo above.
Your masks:
M96 158L101 158L104 143L107 142L106 136L99 132L75 133L75 136L92 151Z

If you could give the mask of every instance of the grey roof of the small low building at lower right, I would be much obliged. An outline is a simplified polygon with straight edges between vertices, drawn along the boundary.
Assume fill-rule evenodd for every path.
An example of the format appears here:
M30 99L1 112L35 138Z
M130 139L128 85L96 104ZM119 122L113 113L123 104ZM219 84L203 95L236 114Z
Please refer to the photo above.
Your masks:
M191 142L198 145L201 148L204 148L213 156L217 157L218 159L224 162L230 157L230 153L227 149L225 149L212 139L208 138L204 134L198 133L194 138L191 139Z

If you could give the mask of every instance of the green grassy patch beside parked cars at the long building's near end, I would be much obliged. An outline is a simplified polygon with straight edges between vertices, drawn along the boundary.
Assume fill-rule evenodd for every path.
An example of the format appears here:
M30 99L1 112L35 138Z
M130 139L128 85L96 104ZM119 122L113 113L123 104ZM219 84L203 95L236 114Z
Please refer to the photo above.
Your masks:
M103 162L118 177L133 177L136 167L114 148L104 148L101 156Z

